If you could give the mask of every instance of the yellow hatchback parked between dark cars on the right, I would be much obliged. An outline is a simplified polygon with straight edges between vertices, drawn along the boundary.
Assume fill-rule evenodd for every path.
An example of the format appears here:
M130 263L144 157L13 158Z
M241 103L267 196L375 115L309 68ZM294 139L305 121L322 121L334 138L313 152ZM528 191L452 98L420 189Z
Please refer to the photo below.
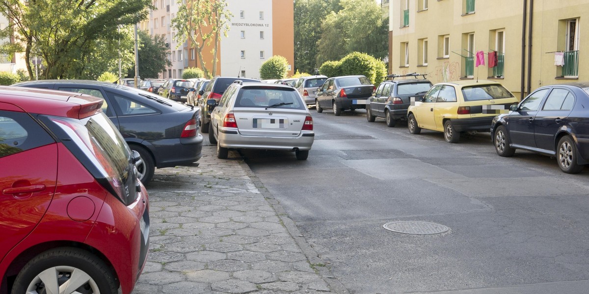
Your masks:
M422 128L444 132L446 142L456 143L461 132L489 132L493 118L517 102L494 81L436 83L423 98L411 102L409 132L419 134Z

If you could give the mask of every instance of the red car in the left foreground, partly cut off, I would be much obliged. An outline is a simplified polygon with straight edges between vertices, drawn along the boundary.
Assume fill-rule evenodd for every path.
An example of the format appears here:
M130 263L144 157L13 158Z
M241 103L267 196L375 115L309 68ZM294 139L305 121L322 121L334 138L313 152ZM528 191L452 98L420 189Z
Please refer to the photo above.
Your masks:
M102 102L0 87L0 293L133 291L149 203Z

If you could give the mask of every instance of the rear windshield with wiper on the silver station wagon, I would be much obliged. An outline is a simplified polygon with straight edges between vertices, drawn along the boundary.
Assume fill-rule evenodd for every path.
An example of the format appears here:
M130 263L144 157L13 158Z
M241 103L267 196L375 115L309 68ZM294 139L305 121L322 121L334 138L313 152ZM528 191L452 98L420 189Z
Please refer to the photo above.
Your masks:
M235 107L306 109L306 104L294 88L247 87L237 93Z

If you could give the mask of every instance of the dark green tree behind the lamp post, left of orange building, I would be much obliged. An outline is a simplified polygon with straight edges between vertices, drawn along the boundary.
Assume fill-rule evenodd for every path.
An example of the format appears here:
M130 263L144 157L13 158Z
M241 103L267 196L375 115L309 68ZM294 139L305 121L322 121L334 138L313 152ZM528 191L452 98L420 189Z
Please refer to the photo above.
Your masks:
M166 66L172 65L168 60L166 41L160 35L155 35L152 38L146 32L139 31L138 42L139 75L142 79L157 79L158 74L166 70ZM129 51L129 53L134 56L133 51ZM135 76L134 64L133 61L128 67L127 76Z

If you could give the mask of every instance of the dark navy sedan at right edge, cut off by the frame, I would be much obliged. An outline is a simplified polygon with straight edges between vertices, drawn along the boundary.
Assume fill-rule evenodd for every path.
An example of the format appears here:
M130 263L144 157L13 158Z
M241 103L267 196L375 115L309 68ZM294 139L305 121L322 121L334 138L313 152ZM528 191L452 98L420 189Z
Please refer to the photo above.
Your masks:
M538 88L493 119L495 151L499 156L512 156L515 149L534 151L554 156L565 173L581 172L589 163L587 108L589 83Z

